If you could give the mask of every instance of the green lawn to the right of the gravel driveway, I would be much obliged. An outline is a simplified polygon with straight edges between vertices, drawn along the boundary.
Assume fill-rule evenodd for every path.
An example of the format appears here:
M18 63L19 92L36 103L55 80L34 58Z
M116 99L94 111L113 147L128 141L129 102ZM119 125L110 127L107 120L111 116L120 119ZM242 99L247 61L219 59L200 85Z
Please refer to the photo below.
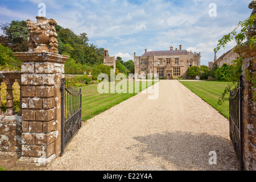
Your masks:
M202 98L209 105L220 111L222 115L229 119L229 101L222 105L217 105L218 98L221 97L228 82L220 81L180 81L189 90Z

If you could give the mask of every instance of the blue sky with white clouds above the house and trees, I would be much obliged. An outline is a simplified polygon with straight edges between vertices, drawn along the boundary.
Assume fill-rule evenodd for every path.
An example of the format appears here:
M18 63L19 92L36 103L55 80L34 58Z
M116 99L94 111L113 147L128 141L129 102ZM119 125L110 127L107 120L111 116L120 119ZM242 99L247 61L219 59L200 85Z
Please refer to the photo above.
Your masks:
M1 0L0 23L36 20L39 3L46 16L76 34L88 34L89 43L108 48L110 56L133 60L144 49L162 51L170 46L201 52L201 65L213 61L213 49L223 35L251 14L251 0ZM209 16L210 3L217 16ZM2 32L0 32L2 34ZM234 42L217 53L220 57Z

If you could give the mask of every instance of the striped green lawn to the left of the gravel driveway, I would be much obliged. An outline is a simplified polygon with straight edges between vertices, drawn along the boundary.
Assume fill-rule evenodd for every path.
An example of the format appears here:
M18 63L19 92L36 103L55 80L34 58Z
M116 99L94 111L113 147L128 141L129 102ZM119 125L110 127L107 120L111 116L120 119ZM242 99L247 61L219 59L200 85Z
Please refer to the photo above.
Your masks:
M143 87L142 89L141 81L139 82L140 82L139 87L137 86L136 88L139 88L141 92L146 88ZM115 85L117 84L118 84L118 81L115 82ZM154 85L154 82L152 82L152 84L149 83L147 85L147 88L151 85ZM135 84L133 85L127 84L127 93L121 93L121 94L110 93L110 91L109 93L100 94L98 93L97 88L98 88L98 84L91 84L88 86L83 86L81 88L82 89L82 121L86 121L90 118L93 118L94 115L100 114L105 110L108 110L111 107L137 94L135 92L129 93L129 88L133 88L133 90L135 90ZM110 84L109 84L109 90L110 90Z

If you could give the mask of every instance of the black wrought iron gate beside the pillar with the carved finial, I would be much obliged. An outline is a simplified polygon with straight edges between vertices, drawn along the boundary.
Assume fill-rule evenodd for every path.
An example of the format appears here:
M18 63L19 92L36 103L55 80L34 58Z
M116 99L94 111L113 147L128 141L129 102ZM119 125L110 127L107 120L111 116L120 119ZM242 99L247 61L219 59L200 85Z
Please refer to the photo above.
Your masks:
M61 80L61 154L81 128L81 89L68 85Z

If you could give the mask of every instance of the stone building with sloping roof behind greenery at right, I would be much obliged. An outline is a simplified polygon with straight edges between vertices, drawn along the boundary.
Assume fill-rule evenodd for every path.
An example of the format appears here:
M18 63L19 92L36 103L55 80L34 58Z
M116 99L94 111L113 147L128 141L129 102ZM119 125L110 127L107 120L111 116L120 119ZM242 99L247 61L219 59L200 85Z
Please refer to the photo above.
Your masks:
M232 61L236 60L239 57L238 53L234 52L234 48L230 49L228 52L221 55L218 59L216 57L216 52L214 55L214 63L209 62L209 70L212 70L215 65L218 65L218 68L221 68L225 63L232 65Z

